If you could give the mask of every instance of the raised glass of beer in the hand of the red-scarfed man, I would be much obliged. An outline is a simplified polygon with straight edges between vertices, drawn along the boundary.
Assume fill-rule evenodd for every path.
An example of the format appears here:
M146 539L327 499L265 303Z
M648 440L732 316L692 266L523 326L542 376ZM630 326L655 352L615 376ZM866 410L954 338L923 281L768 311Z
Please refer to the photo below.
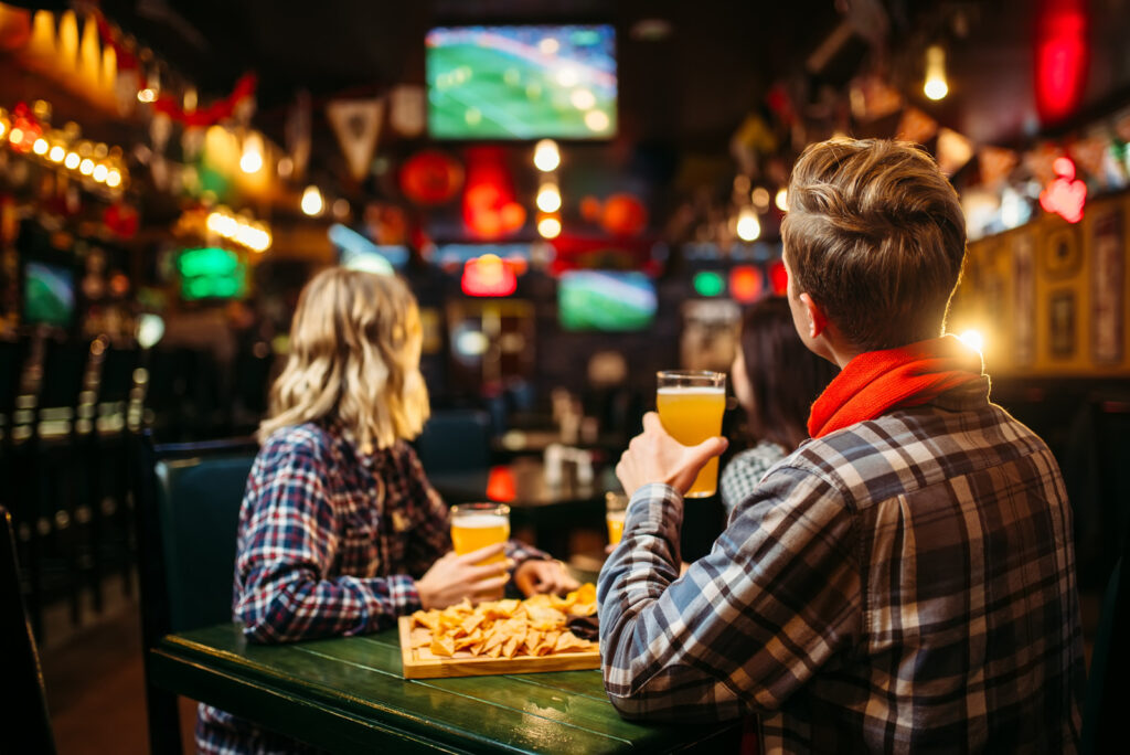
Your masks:
M663 429L683 445L698 445L707 437L721 435L725 373L667 370L657 375L655 407ZM705 498L716 489L718 457L706 462L686 497Z

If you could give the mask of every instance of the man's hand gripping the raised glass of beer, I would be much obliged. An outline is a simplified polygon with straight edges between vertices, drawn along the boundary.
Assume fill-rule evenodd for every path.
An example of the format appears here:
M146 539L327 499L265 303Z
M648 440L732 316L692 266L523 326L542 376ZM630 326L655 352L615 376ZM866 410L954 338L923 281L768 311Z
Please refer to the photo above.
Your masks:
M698 445L683 445L667 434L659 415L643 416L643 433L628 443L616 465L616 476L631 496L651 483L666 483L681 494L694 485L698 471L729 445L724 437L709 437Z

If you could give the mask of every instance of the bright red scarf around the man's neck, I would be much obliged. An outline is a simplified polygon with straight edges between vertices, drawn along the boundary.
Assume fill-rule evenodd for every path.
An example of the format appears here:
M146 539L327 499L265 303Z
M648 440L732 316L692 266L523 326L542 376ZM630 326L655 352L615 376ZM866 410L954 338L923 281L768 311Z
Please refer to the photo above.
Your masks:
M812 403L812 437L913 407L981 380L981 355L954 336L885 352L864 352L849 362Z

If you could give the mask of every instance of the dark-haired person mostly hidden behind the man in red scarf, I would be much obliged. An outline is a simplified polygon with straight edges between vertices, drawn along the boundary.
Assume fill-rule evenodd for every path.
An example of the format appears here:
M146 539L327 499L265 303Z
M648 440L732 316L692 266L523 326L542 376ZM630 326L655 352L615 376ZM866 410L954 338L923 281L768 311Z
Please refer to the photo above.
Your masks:
M755 443L722 470L719 492L727 514L808 437L808 411L834 375L832 364L797 336L785 297L764 298L746 310L730 380Z

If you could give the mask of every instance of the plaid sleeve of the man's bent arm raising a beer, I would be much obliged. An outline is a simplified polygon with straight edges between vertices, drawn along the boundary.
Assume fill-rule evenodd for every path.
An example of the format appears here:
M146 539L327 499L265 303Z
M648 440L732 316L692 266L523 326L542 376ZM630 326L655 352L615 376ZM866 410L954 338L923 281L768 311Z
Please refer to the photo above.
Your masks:
M681 520L676 491L640 488L600 572L609 698L625 718L663 721L779 708L859 631L842 496L814 475L779 468L679 578Z

